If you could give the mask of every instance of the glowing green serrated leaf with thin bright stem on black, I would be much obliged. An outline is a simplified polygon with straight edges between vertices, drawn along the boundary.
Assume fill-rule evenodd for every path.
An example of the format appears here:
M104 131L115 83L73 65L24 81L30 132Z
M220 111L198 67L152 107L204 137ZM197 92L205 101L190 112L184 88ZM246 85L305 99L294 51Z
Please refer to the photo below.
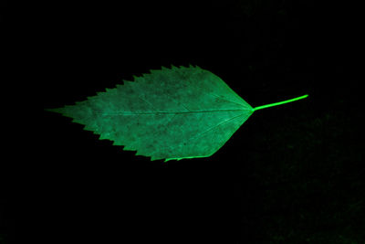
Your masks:
M85 130L151 160L214 154L256 110L212 72L199 67L151 70L114 89L56 111Z

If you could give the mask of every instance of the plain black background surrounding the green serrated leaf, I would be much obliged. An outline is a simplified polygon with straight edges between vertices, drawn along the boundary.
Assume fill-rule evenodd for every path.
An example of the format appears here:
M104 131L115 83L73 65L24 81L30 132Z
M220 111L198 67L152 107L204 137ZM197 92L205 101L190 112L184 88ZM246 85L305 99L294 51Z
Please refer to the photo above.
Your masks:
M11 155L1 163L1 244L365 242L360 5L1 7ZM212 157L167 164L43 111L189 64L254 107L309 97L255 112Z

